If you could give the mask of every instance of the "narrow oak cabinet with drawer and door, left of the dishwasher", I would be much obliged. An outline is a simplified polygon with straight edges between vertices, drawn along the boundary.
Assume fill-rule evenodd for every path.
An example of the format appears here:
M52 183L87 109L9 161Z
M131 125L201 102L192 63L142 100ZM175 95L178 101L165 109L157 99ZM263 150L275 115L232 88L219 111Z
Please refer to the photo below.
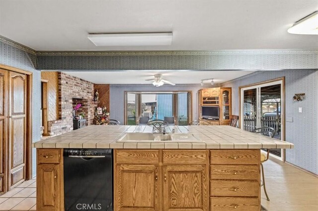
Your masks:
M40 211L64 211L62 150L37 150L36 206Z

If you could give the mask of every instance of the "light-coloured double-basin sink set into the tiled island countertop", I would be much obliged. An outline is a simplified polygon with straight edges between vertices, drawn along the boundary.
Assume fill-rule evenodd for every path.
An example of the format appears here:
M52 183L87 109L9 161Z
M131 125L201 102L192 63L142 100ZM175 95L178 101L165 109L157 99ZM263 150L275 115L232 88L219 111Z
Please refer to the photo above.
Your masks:
M192 133L124 133L116 142L201 142Z

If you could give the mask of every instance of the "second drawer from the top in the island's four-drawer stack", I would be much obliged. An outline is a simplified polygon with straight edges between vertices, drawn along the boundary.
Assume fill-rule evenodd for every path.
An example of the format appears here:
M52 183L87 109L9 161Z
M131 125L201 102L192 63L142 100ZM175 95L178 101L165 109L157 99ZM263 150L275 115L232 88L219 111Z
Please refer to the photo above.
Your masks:
M211 165L211 179L259 179L258 165Z

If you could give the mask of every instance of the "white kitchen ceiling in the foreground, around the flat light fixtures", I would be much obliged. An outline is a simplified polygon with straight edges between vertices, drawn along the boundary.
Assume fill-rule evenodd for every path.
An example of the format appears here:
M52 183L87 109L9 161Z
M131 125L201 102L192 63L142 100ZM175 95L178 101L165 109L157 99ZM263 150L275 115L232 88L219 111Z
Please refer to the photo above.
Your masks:
M316 49L287 29L318 0L0 0L0 35L37 51ZM88 33L173 32L171 46L96 47Z

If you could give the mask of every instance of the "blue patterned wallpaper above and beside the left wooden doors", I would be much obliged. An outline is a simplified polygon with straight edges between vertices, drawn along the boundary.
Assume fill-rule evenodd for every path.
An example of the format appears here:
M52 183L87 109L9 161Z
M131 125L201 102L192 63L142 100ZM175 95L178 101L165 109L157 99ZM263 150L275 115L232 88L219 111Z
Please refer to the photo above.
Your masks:
M12 46L0 42L0 64L5 64L28 70L33 72L33 90L32 90L32 142L39 141L41 138L40 127L41 127L41 72L36 70L32 62L30 61L29 55L22 50L16 49ZM35 149L32 150L33 156L33 169L32 173L36 175L36 156Z

